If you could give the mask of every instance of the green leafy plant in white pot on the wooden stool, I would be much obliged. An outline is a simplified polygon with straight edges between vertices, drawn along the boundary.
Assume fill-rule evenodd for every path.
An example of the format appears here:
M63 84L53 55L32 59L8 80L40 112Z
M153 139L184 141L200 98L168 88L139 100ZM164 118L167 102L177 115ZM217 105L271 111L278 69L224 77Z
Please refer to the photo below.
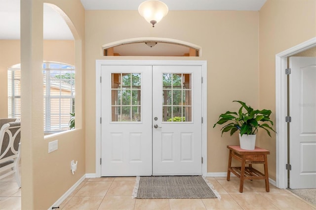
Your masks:
M267 131L271 137L269 130L275 132L273 128L267 124L273 125L270 119L271 110L262 109L254 110L251 106L241 101L233 101L239 103L241 106L238 112L227 111L219 116L219 120L214 124L213 128L218 125L225 124L221 131L222 136L225 132L230 132L231 136L239 131L240 148L253 150L255 148L256 134L258 128L262 128Z

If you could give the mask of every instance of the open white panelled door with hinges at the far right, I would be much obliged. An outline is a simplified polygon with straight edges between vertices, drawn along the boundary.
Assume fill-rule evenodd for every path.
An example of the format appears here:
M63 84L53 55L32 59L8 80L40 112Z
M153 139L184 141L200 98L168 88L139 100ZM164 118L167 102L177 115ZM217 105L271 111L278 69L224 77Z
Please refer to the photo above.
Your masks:
M290 57L290 188L316 188L316 57Z

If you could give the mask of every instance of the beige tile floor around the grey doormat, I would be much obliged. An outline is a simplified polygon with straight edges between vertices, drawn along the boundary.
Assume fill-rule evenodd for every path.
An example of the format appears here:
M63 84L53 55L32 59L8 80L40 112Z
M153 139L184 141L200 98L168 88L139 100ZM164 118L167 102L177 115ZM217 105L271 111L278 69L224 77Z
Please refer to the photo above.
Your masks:
M316 206L264 180L207 177L222 199L132 199L135 177L86 178L60 205L60 210L316 210ZM21 209L21 190L12 177L0 180L0 210Z

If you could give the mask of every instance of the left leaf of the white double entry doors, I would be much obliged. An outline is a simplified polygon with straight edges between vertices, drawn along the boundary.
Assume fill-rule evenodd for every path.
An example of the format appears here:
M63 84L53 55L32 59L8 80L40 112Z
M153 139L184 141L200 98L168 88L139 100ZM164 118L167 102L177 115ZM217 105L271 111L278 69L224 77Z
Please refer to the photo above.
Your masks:
M152 66L102 66L101 76L101 176L152 175Z

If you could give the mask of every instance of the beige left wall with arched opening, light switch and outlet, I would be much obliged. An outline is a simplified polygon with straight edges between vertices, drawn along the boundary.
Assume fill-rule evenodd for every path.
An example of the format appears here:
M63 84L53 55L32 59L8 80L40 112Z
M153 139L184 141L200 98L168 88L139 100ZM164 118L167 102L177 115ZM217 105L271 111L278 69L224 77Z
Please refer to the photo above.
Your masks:
M75 37L71 44L75 52L62 55L55 50L56 43L43 44L43 2L53 3L59 13L65 13ZM43 86L37 81L42 81L41 64L46 56L49 60L63 56L59 61L76 66L76 129L44 139ZM21 1L22 209L48 209L85 175L83 67L84 8L80 0ZM52 140L59 140L58 150L48 153L48 142ZM75 175L70 171L71 160L78 161Z

